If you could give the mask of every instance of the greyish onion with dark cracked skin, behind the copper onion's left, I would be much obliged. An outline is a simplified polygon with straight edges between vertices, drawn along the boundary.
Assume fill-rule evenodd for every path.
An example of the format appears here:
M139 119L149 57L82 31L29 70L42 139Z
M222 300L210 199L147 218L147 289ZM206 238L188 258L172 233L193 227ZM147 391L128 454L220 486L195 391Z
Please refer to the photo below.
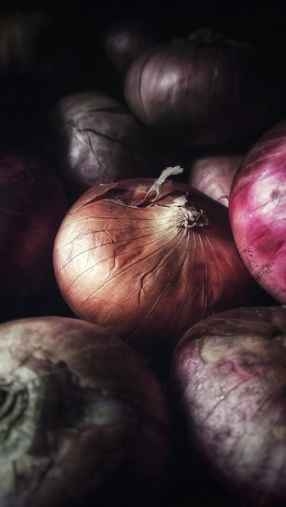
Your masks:
M150 136L99 91L69 95L50 114L50 151L73 196L101 183L150 175Z

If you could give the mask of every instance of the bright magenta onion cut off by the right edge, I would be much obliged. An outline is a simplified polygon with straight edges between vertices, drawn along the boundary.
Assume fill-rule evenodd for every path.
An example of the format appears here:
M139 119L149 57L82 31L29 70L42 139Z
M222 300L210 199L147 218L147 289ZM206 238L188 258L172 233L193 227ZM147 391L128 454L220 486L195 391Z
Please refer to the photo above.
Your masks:
M286 303L286 121L266 132L244 158L229 195L239 253L258 283Z

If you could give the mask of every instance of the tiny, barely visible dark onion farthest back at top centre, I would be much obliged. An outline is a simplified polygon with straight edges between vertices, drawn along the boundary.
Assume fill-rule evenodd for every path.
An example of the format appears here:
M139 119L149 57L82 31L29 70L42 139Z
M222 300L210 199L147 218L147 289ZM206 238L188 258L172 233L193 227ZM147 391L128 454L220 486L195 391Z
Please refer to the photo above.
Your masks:
M106 54L122 76L136 57L154 46L152 34L136 19L110 24L101 38Z

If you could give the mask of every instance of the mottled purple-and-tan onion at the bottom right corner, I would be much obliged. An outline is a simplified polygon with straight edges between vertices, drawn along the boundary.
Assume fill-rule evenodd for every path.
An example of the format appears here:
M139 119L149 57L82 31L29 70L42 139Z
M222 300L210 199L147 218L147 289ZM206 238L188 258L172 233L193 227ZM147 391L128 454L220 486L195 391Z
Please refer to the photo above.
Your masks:
M194 325L170 388L193 445L244 507L286 503L286 310L238 308Z

